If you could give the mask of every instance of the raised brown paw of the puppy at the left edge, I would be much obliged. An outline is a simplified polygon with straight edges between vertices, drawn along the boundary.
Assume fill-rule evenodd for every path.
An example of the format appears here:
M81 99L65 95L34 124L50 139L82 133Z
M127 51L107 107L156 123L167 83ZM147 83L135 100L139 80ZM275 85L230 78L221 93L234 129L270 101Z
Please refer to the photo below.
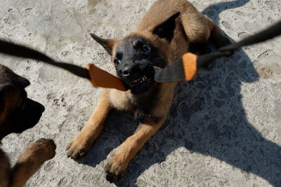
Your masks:
M31 144L20 155L20 160L37 159L41 162L50 160L55 156L55 143L52 139L39 139Z

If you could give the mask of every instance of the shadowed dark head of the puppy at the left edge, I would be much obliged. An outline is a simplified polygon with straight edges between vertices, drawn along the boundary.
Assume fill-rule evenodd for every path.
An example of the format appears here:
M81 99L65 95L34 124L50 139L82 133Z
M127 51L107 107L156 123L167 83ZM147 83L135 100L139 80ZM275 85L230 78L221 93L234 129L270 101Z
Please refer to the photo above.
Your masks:
M6 135L34 127L44 106L27 98L30 81L0 65L0 140Z

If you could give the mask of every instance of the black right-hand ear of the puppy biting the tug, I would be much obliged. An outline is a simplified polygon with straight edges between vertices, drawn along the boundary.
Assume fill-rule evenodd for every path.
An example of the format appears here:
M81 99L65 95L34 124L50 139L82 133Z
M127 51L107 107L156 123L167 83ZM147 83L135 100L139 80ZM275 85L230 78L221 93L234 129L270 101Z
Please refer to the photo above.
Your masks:
M157 25L153 30L152 34L158 35L162 39L166 39L168 41L171 41L174 37L174 29L176 29L176 18L181 13L175 13L170 18L162 22L160 25Z

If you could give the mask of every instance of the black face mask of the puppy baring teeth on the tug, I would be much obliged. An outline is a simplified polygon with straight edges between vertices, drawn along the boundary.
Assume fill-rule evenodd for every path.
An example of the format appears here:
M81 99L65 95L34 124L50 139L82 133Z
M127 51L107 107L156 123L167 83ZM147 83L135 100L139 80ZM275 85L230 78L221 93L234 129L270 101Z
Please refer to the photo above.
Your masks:
M133 94L146 92L155 84L153 67L164 67L164 55L141 36L117 43L113 57L117 75Z

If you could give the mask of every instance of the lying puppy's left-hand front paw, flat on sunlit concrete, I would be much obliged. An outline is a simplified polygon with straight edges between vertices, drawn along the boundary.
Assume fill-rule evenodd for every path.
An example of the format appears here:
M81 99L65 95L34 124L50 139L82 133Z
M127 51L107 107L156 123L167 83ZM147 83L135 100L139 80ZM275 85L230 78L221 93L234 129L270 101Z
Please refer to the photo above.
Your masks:
M90 146L86 143L84 137L78 135L67 145L67 157L72 159L81 158L89 150Z

